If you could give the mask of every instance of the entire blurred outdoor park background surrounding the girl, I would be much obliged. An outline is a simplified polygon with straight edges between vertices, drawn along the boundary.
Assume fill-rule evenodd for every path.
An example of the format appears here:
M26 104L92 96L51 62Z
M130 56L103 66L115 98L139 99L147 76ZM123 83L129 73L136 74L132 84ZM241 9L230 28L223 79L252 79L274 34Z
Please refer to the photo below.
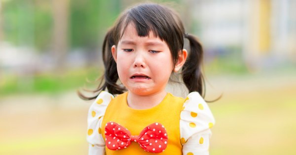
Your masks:
M203 44L206 100L222 94L211 155L296 155L296 0L151 1ZM104 35L137 2L0 0L0 155L87 154L76 90L97 86Z

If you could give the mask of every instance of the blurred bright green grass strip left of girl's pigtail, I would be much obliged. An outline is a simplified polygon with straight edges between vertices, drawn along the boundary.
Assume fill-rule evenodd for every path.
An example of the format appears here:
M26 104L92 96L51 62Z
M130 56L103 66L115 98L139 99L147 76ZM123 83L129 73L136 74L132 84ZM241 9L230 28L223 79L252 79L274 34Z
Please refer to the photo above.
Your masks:
M49 93L56 94L76 90L85 86L94 89L96 79L101 76L97 68L68 70L65 73L40 73L31 76L6 75L0 84L0 97L9 94ZM89 80L90 83L87 83Z

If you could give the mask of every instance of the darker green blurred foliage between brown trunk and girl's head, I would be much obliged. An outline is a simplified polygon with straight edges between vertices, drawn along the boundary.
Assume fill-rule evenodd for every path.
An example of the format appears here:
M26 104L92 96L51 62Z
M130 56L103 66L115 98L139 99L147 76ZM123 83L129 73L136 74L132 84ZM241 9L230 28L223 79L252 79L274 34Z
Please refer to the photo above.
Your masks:
M120 12L120 0L72 0L71 45L94 51Z

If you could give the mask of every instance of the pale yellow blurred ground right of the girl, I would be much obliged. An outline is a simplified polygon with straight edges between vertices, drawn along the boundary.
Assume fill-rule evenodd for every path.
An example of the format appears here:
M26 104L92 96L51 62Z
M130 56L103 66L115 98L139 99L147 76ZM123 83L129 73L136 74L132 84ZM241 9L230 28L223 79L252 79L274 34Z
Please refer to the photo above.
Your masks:
M210 105L217 121L211 155L296 154L296 83L254 82L256 89L238 85Z

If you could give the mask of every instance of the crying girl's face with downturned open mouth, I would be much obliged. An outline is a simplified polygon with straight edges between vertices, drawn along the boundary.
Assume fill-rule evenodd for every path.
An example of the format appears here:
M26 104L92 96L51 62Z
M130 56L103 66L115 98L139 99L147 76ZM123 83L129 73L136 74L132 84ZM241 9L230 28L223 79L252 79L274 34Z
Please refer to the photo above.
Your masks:
M137 95L152 95L165 92L174 69L171 51L165 41L153 32L141 37L129 24L119 40L112 46L112 55L117 63L117 72L122 84Z

